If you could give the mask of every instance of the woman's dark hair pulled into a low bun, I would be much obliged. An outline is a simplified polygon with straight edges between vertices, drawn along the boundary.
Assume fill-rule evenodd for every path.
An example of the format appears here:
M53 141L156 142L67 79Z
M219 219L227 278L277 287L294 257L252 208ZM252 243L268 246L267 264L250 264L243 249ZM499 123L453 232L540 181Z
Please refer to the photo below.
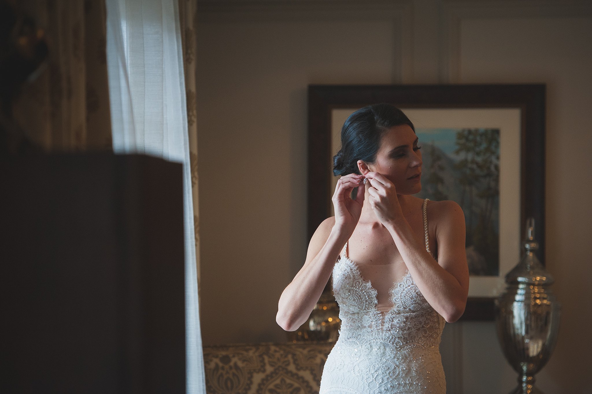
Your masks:
M358 160L374 164L382 135L391 127L404 124L415 133L407 115L390 104L368 105L353 112L341 128L341 149L333 156L333 175L360 175Z

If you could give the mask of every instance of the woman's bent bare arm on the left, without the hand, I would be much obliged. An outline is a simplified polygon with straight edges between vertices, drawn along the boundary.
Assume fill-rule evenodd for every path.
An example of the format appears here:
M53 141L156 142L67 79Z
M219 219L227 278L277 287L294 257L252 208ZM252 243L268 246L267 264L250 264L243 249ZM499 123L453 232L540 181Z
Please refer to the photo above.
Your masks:
M286 331L298 330L310 317L348 240L334 224L335 217L330 217L318 226L308 244L304 266L279 298L275 321Z

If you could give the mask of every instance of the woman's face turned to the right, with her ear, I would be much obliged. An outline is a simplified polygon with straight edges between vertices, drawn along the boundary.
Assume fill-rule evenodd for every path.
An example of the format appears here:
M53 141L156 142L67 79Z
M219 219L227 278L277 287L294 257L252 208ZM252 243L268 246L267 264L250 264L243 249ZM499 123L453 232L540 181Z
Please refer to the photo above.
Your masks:
M415 194L422 190L421 175L414 179L409 177L422 172L421 146L417 145L417 135L409 125L391 127L383 136L376 162L368 164L364 171L358 162L362 174L369 171L381 173L388 178L397 189L397 194Z

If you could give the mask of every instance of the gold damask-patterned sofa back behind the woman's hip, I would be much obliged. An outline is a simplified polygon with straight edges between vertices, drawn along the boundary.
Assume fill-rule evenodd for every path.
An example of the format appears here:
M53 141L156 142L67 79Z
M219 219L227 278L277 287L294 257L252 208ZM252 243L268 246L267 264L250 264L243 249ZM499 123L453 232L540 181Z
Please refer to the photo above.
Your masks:
M318 394L334 343L260 343L204 347L208 394Z

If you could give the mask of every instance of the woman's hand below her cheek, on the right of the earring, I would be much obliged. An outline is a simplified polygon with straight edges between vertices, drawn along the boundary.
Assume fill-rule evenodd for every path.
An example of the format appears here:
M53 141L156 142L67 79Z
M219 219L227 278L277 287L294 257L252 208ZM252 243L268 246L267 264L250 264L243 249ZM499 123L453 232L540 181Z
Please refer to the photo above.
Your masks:
M366 173L368 185L368 203L378 220L386 227L390 222L403 217L395 185L378 172Z

